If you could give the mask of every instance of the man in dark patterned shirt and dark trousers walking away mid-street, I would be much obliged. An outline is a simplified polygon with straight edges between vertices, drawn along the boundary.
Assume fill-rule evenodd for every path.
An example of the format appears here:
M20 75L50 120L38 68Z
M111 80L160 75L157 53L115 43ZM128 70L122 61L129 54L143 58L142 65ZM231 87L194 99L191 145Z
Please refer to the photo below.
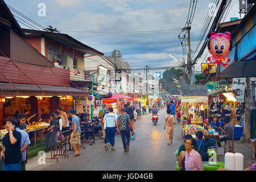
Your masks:
M117 131L120 132L122 142L123 142L123 149L124 152L129 152L129 145L130 145L130 127L131 125L129 114L126 114L125 107L122 107L121 114L118 116L117 119ZM132 128L132 132L134 132Z

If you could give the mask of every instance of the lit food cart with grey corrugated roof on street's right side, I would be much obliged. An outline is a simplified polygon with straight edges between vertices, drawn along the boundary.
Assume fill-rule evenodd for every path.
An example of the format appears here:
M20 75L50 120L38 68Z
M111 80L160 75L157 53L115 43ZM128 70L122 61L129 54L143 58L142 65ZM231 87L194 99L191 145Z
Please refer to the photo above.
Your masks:
M202 125L208 118L208 92L206 85L183 85L181 88L181 105L183 109L183 135L187 133L188 125ZM207 112L206 112L207 111ZM198 127L189 127L190 130Z

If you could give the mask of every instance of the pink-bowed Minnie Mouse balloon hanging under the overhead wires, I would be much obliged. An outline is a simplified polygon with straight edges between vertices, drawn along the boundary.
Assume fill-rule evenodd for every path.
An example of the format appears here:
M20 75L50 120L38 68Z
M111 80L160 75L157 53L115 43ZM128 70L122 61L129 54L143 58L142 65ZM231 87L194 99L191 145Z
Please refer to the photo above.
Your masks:
M223 67L229 67L228 63L230 61L229 55L232 49L232 40L230 38L230 32L216 33L214 31L209 33L208 40L208 50L212 55L208 57L209 66L214 66L215 64L222 64Z

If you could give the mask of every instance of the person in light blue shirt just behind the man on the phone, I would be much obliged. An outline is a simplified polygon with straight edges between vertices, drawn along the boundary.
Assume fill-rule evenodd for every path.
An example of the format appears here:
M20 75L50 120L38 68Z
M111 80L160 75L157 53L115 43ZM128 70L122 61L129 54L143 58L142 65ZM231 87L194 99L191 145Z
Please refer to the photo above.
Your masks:
M16 119L17 120L17 119ZM19 120L17 120L19 126ZM27 160L27 147L30 144L30 138L26 131L20 130L19 127L16 127L16 131L22 135L20 142L20 152L22 152L22 171L26 171L26 160Z

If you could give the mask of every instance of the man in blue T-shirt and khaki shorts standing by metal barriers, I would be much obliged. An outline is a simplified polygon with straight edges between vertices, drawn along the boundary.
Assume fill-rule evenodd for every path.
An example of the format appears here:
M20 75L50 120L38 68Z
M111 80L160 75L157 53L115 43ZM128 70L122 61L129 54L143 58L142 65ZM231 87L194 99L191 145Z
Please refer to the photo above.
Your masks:
M73 155L73 157L76 157L78 155L81 155L81 153L80 153L80 145L81 145L80 122L79 122L79 117L77 117L75 110L71 109L68 111L69 111L69 115L71 115L71 117L72 117L72 129L73 129L73 133L71 134L70 143L75 150L75 154ZM76 149L76 145L77 145L77 149Z

